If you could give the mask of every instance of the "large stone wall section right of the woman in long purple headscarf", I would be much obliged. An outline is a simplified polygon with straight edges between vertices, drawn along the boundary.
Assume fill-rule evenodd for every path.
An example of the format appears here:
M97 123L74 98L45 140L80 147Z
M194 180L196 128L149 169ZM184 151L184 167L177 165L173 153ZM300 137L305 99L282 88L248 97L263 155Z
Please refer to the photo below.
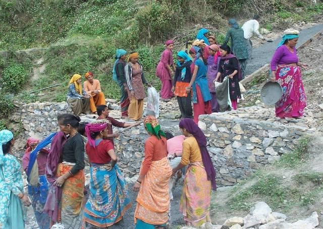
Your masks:
M223 186L242 182L255 169L290 152L299 137L316 132L306 119L279 120L261 107L213 113L199 120L217 168L218 184Z

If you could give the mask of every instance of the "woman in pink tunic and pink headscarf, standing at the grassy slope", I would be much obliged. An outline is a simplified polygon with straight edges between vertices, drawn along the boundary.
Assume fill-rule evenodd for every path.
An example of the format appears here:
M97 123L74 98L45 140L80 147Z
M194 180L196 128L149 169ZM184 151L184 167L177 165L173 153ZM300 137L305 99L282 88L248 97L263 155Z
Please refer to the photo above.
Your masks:
M156 69L156 76L161 81L161 99L170 99L174 96L172 92L172 75L174 75L175 72L173 48L174 41L166 41L166 49L161 54L161 59Z

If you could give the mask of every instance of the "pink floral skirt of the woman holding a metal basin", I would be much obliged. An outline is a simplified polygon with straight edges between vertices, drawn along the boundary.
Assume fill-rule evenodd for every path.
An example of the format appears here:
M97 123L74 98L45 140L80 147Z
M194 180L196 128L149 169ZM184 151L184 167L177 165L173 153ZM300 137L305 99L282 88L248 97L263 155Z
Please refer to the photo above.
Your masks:
M306 95L298 66L278 66L276 81L283 88L281 99L275 104L276 117L292 118L304 115Z

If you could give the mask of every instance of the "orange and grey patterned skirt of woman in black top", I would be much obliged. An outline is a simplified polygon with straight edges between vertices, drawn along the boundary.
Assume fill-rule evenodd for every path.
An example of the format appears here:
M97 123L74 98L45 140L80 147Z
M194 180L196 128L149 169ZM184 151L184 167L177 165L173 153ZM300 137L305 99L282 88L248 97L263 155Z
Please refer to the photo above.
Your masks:
M57 177L69 173L73 163L63 162L58 165ZM79 170L73 177L68 178L62 187L62 199L60 202L61 213L59 218L65 229L81 228L83 217L85 175L84 170ZM61 217L60 217L61 216Z

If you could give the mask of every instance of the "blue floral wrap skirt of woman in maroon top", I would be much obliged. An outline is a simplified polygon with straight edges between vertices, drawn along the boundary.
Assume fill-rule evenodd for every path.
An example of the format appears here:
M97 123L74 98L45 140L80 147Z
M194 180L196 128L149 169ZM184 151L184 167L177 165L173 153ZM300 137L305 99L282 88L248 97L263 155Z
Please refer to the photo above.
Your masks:
M90 196L85 204L84 221L91 224L89 227L111 226L131 207L125 178L117 164L111 167L111 164L92 163L90 174Z

